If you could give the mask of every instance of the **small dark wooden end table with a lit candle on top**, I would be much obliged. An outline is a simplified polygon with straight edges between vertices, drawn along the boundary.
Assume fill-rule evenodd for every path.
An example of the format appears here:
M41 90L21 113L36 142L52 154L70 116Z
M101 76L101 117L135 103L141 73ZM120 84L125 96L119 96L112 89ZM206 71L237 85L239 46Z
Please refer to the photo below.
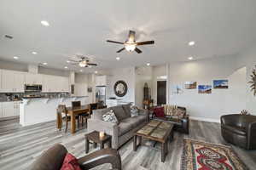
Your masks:
M108 148L111 148L111 139L112 137L105 133L103 138L100 138L100 133L97 131L93 131L91 133L87 133L85 136L85 153L89 152L89 144L90 141L93 142L94 148L97 147L97 144L100 144L100 149L104 149L104 144L108 143Z

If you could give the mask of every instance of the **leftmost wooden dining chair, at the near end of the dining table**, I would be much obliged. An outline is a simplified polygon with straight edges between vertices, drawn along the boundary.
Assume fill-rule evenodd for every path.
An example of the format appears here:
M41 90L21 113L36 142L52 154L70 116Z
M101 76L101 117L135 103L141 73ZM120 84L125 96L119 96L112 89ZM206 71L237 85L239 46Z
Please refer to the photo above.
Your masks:
M65 133L67 133L68 122L71 122L71 116L67 115L66 105L58 105L57 108L57 128L61 131L62 121L66 121ZM79 127L79 116L76 116L76 120L78 121Z

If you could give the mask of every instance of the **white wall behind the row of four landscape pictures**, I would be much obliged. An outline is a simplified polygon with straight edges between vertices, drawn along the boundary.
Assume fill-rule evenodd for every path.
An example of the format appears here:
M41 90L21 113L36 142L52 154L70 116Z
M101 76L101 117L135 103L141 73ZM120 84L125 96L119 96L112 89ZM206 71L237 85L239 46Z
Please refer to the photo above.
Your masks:
M227 113L246 109L246 68L238 69L238 56L175 63L169 65L169 103L185 106L191 117L219 122ZM229 89L213 89L212 94L198 94L198 89L183 89L183 94L173 94L174 85L197 82L212 85L212 80L228 79Z

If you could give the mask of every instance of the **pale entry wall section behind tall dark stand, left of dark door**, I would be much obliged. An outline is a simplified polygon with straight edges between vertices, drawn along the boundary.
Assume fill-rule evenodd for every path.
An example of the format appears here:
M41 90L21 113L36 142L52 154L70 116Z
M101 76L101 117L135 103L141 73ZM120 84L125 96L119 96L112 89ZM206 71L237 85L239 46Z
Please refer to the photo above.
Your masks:
M151 66L137 67L135 70L135 105L139 108L143 108L145 82L148 83L149 94L152 95L152 70Z

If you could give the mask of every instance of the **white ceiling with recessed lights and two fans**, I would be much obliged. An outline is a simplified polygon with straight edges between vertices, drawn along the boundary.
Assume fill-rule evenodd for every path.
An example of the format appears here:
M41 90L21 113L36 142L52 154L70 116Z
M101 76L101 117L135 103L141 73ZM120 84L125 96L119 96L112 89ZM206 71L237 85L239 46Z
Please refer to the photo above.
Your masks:
M255 0L1 0L0 59L79 71L66 62L74 54L93 56L96 69L232 55L256 42L255 8ZM116 54L122 46L106 40L125 41L130 29L155 44Z

